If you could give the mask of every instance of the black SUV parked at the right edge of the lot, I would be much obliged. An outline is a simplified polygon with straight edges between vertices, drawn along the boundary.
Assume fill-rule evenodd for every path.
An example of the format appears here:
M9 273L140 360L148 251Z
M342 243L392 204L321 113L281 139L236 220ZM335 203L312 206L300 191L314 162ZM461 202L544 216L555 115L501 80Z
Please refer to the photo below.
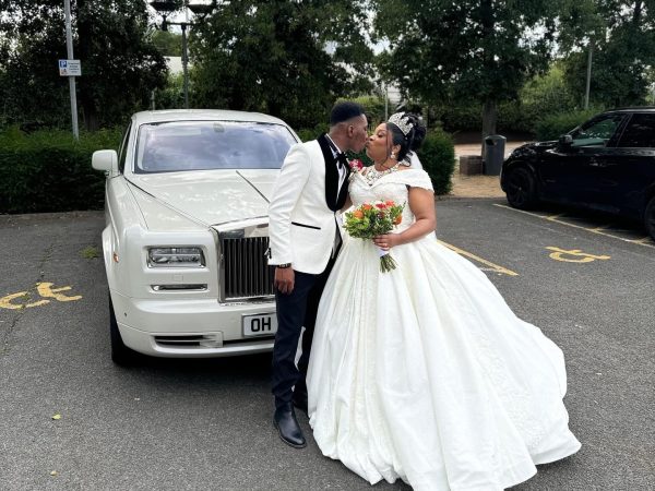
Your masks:
M655 107L606 111L559 141L516 148L500 185L516 208L581 205L643 220L655 239Z

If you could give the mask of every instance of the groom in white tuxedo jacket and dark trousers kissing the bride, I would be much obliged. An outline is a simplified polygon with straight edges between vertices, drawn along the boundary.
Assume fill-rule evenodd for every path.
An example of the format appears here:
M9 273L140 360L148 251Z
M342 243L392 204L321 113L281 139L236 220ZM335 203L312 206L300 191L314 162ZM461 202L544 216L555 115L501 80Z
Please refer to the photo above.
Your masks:
M361 152L368 121L364 108L344 101L332 108L330 133L289 149L269 207L270 256L275 266L277 334L273 347L273 422L288 445L307 445L294 406L307 412L305 376L319 300L341 246L336 223L346 201L345 151ZM302 355L296 368L300 333Z

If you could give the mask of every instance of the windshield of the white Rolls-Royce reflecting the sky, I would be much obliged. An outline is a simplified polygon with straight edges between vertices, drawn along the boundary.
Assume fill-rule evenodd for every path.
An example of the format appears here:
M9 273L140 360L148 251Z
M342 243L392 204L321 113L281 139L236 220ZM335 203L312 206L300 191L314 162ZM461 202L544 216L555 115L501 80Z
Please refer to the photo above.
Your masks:
M138 173L206 169L278 169L296 143L283 124L171 121L142 124Z

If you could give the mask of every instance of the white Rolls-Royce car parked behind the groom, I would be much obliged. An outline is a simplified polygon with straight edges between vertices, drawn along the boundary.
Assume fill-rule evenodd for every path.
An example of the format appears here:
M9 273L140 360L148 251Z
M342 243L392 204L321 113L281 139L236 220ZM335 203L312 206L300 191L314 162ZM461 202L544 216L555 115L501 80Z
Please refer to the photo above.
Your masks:
M270 350L276 331L269 199L296 133L226 110L134 115L107 176L103 251L111 358Z

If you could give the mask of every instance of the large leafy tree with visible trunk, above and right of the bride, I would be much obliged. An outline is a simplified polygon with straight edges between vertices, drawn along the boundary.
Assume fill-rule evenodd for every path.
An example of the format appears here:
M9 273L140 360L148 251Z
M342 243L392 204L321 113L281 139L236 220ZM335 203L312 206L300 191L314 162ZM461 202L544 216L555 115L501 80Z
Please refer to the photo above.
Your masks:
M376 33L390 43L380 68L431 106L478 101L483 134L495 133L498 103L548 67L558 1L374 0Z

